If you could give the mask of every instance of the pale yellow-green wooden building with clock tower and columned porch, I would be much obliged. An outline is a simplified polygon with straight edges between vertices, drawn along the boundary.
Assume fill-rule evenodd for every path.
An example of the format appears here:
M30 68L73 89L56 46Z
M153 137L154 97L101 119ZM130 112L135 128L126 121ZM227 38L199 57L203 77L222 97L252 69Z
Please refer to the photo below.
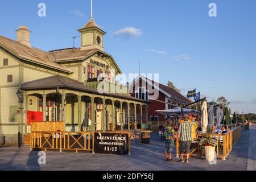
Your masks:
M131 122L135 129L137 122L148 122L148 102L115 81L121 70L104 52L105 32L93 19L78 31L80 48L49 52L31 46L26 26L16 30L16 40L0 36L2 143L30 133L28 112L41 113L42 121L64 121L65 131L81 131L87 118L92 131L130 130Z

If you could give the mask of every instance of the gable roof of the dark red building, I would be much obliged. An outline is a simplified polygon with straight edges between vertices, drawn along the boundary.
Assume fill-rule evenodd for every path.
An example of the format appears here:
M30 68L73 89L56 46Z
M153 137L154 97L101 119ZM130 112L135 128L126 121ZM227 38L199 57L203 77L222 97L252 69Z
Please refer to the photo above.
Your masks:
M134 79L133 82L137 82L139 80L139 78L142 78L142 80L146 81L148 84L150 85L154 85L156 89L158 89L160 92L162 92L163 94L165 94L167 97L172 97L172 98L176 98L177 100L181 100L181 101L185 101L185 102L191 102L191 100L189 100L188 98L184 97L182 94L180 94L179 92L177 92L175 89L170 88L169 86L160 84L154 80L151 80L147 77L144 77L142 75L136 77Z

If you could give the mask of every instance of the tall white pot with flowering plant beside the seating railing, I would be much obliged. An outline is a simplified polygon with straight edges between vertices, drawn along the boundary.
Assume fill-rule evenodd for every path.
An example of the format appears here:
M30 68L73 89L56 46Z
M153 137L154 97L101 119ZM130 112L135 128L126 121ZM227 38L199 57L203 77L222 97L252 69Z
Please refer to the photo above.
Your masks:
M207 130L205 138L200 140L200 146L204 147L205 159L213 162L215 156L215 148L217 146L217 140L210 138L210 129Z

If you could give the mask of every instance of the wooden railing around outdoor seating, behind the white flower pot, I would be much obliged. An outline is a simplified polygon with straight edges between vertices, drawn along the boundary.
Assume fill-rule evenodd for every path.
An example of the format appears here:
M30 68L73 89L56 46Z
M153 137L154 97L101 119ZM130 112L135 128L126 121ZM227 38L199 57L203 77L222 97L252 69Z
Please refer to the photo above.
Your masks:
M199 135L199 137L203 137L203 135ZM217 140L217 158L221 158L222 160L226 160L230 152L232 151L233 145L240 139L241 137L241 126L237 127L236 129L229 131L225 134L210 134L211 138ZM176 155L177 158L180 155L180 143L176 142ZM202 149L199 146L199 142L197 143L197 147L191 152L191 155L202 155ZM194 152L196 151L196 154Z

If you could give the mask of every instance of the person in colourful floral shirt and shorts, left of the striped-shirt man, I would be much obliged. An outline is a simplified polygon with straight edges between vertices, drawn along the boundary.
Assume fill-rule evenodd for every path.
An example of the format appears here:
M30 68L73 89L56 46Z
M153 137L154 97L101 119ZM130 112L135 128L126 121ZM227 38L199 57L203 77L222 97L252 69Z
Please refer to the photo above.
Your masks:
M168 119L167 125L163 127L163 133L164 133L164 143L166 144L165 146L165 160L172 162L172 150L174 150L174 139L175 139L175 134L174 134L174 128L171 126L172 121L171 119ZM167 159L167 155L169 154L169 159Z

